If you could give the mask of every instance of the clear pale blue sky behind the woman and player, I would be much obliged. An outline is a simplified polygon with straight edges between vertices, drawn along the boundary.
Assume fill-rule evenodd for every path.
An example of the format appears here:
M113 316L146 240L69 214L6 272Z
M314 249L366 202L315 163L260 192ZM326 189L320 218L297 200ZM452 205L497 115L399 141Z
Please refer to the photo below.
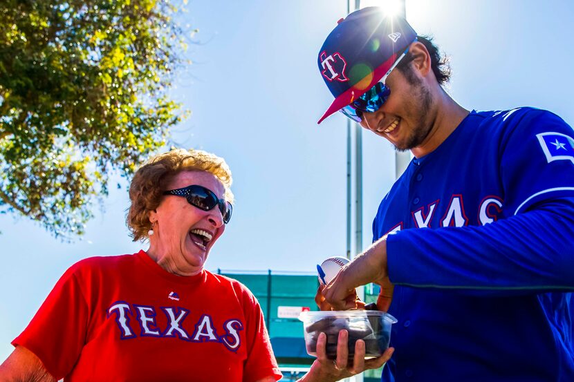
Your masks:
M337 114L316 124L331 103L316 60L346 0L190 0L187 10L201 44L189 46L194 64L175 82L174 97L192 115L174 140L225 157L237 199L206 268L313 271L344 256L346 122ZM574 125L572 1L407 0L407 19L450 55L447 91L463 107L536 106ZM394 180L394 151L380 137L362 137L367 245ZM0 217L0 361L73 262L147 248L128 237L127 207L125 184L111 187L105 210L94 207L86 235L73 243Z

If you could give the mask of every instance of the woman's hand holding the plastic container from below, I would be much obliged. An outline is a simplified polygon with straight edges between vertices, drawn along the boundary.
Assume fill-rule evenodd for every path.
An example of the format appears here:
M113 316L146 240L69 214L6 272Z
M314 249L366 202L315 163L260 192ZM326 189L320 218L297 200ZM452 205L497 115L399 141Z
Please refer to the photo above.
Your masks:
M349 376L362 373L364 370L378 369L391 359L394 352L394 348L389 347L382 356L365 360L364 341L359 340L355 343L355 355L352 360L349 360L348 341L349 333L346 330L341 330L337 338L337 359L328 359L326 354L327 336L321 333L317 338L317 359L311 365L311 370L300 381L331 382L349 378Z

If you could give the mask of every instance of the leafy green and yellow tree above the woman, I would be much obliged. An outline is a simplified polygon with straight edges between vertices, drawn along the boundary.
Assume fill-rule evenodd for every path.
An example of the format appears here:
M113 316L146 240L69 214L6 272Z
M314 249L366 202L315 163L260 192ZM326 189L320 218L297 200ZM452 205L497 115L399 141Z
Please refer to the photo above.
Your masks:
M183 32L166 0L0 1L0 211L84 233L182 117Z

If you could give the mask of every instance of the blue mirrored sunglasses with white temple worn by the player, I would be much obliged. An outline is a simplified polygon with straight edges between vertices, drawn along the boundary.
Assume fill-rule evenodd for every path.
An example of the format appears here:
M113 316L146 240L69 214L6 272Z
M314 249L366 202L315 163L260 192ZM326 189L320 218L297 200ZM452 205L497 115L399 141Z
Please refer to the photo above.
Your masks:
M416 41L416 40L415 40ZM363 95L351 102L351 104L340 109L340 112L351 118L351 120L359 123L362 120L363 113L374 113L380 109L380 107L387 102L389 95L391 95L391 89L389 86L385 85L387 77L391 74L394 68L398 65L401 59L407 55L409 48L402 52L402 55L398 57L393 66L387 73L377 82L372 88L367 90Z

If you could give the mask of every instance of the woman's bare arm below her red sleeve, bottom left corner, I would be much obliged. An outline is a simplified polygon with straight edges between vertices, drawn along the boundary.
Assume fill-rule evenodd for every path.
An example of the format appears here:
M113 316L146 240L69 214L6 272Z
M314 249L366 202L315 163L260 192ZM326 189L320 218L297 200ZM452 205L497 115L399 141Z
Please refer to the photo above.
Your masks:
M3 382L56 382L40 359L26 349L17 346L0 365L0 381Z

